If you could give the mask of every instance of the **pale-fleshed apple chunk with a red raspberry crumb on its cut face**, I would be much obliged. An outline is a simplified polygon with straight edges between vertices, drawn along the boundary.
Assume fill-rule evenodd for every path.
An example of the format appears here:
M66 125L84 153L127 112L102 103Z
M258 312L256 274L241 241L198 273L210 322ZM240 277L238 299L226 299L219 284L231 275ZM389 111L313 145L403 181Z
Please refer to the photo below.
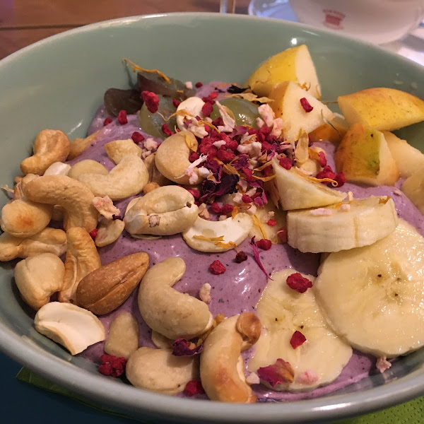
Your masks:
M326 105L307 91L302 90L293 81L283 81L277 84L268 97L273 100L270 106L276 117L283 119L283 136L289 141L297 140L301 129L310 133L324 124L324 119L331 121L334 118L334 113ZM306 99L312 107L310 112L304 109L300 102L301 99Z

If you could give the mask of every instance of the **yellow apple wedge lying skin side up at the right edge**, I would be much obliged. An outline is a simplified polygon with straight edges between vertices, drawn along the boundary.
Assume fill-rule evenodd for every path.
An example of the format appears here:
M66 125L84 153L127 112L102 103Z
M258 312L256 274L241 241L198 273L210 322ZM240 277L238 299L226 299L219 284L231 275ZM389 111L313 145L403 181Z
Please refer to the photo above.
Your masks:
M424 101L394 88L367 88L337 99L350 125L360 122L382 131L424 121Z

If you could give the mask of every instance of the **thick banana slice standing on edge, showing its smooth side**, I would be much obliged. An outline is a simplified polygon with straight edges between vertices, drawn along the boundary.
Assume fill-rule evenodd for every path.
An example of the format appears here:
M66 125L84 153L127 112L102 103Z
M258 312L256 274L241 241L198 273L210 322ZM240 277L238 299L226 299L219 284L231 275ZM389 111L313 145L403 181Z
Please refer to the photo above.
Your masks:
M288 244L300 252L338 252L372 245L398 223L389 196L370 196L349 203L287 213Z

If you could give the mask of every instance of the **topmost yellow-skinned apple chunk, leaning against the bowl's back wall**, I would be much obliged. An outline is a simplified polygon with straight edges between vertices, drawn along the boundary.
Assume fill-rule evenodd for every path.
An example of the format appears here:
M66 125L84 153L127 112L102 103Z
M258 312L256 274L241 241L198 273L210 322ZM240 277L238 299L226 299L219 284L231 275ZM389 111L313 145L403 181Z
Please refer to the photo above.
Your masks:
M281 81L298 83L314 98L321 98L317 72L306 45L285 49L264 61L245 83L259 97L268 96Z

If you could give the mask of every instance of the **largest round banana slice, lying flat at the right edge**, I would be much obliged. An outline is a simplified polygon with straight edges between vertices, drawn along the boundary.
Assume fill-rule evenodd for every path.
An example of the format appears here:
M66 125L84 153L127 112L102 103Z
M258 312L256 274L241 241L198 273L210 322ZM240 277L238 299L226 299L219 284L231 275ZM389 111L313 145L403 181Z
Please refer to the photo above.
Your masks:
M424 238L404 220L374 245L330 254L314 287L334 331L377 357L423 346L423 257Z

